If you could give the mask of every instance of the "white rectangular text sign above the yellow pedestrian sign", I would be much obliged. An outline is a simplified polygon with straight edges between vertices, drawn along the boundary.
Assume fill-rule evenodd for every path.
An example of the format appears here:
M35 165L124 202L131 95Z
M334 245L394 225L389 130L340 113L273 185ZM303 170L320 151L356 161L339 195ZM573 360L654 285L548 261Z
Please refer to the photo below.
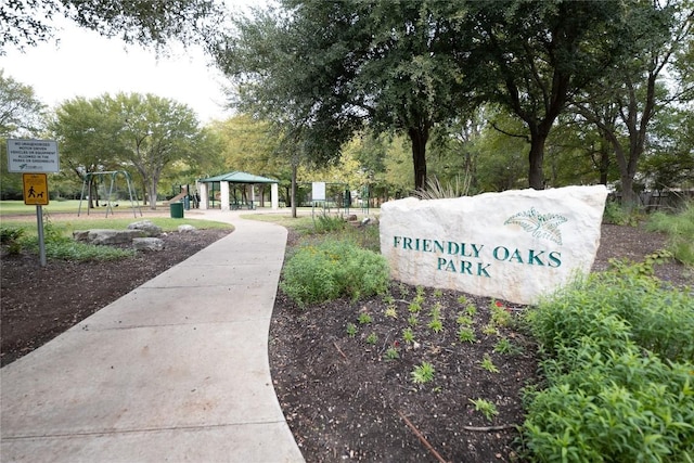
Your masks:
M8 171L10 172L59 172L55 140L8 140Z

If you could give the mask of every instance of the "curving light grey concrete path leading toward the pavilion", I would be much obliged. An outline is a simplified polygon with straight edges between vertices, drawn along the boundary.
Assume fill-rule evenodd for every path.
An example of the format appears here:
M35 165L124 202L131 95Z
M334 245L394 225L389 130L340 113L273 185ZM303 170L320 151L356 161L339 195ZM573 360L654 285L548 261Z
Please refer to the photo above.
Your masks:
M267 349L286 230L203 218L236 230L0 370L0 461L304 461Z

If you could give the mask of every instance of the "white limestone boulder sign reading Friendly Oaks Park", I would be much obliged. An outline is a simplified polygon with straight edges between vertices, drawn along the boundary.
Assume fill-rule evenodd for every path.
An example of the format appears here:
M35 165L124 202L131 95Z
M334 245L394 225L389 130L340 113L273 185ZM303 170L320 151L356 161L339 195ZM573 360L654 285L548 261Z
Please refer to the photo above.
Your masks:
M590 271L607 190L566 187L381 207L381 252L394 279L535 304Z

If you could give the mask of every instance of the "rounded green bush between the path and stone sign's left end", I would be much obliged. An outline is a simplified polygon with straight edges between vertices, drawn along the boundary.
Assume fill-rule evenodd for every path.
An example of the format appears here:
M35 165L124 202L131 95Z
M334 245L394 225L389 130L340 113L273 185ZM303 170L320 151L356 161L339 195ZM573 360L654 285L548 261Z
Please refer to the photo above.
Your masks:
M304 306L340 296L385 294L389 269L383 256L351 242L327 239L300 247L284 266L280 287Z

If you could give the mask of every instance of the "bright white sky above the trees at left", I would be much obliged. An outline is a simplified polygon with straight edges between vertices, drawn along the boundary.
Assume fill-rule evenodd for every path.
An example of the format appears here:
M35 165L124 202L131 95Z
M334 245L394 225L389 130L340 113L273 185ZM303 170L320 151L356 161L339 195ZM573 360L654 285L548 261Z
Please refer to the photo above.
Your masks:
M243 8L253 0L227 0ZM97 98L118 92L154 93L189 105L201 123L226 119L232 115L224 108L224 77L208 66L202 49L172 48L171 57L157 59L154 51L140 46L126 46L61 22L55 40L26 47L24 52L8 48L0 56L5 77L31 86L36 97L49 107L75 97Z

